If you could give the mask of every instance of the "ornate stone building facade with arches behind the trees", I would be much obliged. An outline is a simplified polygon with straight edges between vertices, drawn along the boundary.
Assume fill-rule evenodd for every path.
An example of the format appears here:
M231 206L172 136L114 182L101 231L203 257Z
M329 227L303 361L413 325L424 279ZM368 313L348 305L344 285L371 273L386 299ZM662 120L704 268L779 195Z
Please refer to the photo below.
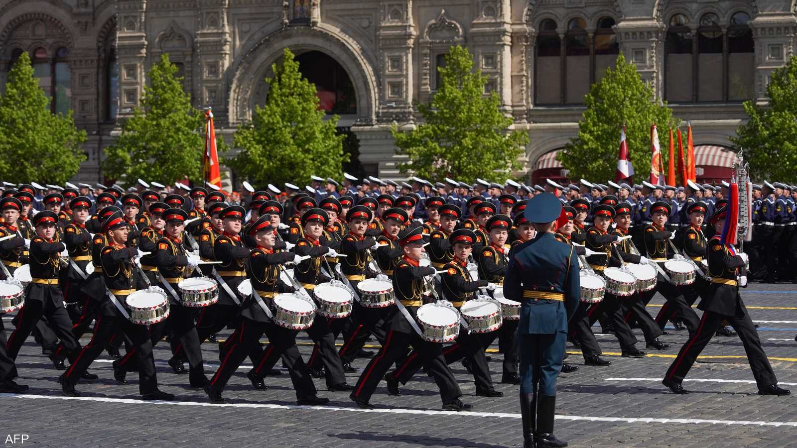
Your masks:
M231 141L267 95L282 51L297 55L322 107L359 141L363 172L402 177L391 124L418 123L451 45L465 45L486 90L528 131L528 175L563 177L583 95L618 53L674 114L691 120L698 176L720 176L743 100L794 53L795 0L3 0L0 88L23 51L88 132L80 180L102 179L101 150L139 105L168 53L197 107ZM647 143L644 143L647 144ZM715 169L717 168L717 169ZM702 173L702 174L701 174Z

